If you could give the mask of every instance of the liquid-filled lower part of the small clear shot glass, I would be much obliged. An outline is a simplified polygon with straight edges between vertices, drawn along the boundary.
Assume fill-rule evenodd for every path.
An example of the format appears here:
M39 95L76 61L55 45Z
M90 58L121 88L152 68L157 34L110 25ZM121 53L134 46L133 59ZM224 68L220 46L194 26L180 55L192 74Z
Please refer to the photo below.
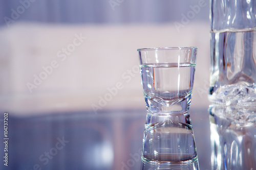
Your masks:
M195 64L148 64L141 66L142 85L147 109L152 112L172 111L168 108L185 101L189 107L194 84ZM183 110L183 106L178 107Z

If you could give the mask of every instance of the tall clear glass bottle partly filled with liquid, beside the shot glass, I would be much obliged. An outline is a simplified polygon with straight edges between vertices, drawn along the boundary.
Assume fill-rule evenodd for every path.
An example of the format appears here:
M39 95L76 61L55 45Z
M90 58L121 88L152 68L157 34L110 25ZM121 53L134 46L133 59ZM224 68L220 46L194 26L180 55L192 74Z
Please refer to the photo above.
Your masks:
M256 101L255 0L211 0L209 100L224 105Z

